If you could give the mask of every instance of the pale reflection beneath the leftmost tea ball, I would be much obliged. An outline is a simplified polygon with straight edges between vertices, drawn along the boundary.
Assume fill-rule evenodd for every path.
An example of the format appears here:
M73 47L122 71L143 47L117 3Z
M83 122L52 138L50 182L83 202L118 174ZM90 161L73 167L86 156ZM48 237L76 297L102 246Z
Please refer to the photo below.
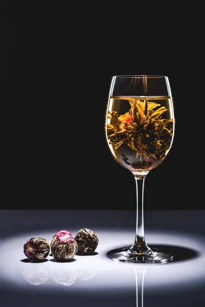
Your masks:
M24 267L23 276L33 286L44 283L50 276L48 262L33 264L29 263Z

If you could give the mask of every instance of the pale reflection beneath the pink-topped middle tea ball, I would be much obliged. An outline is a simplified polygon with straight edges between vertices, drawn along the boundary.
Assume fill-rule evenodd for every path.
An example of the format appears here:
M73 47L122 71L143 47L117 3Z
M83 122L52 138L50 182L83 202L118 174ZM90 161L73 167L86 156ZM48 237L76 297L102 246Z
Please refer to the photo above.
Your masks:
M56 283L62 284L63 286L71 286L77 278L77 273L71 268L53 268L51 270L51 277Z

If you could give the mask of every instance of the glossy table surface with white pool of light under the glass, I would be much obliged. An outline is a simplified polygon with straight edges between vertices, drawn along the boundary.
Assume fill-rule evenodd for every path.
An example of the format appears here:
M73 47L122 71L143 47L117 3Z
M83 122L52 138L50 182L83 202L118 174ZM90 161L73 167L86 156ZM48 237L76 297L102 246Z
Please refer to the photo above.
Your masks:
M3 307L205 305L205 211L145 211L150 247L174 254L167 264L116 262L107 252L131 246L135 211L0 210L0 295ZM51 242L60 230L89 228L99 239L93 255L33 263L23 252L32 236Z

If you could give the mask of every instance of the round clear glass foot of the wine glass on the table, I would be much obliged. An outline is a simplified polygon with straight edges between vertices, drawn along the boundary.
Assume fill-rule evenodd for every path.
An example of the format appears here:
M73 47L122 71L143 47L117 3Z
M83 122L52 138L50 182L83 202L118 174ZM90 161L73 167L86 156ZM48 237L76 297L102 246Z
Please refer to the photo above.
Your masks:
M165 250L152 248L148 254L137 254L130 247L111 250L107 253L107 257L111 260L122 262L138 262L138 263L161 263L170 262L174 256Z

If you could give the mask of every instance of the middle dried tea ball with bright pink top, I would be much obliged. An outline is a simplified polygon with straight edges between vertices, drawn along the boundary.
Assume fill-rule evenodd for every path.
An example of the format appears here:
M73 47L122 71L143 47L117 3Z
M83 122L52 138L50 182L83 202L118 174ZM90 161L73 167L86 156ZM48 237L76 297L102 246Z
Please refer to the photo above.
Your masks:
M56 260L70 260L77 252L76 240L67 230L58 231L51 240L51 253Z

